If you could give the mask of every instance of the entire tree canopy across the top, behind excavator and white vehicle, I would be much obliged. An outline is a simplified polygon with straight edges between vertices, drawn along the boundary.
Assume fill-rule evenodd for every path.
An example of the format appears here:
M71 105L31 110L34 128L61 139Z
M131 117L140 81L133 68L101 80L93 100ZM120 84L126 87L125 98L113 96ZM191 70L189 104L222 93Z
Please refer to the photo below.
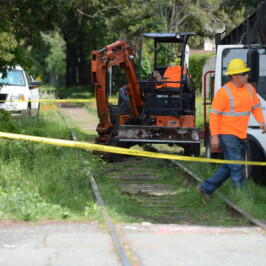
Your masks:
M231 3L232 2L232 3ZM0 1L0 72L35 65L44 81L87 85L90 56L118 39L137 51L143 32L195 32L193 48L221 25L232 28L260 1L5 0ZM238 4L237 4L238 3ZM65 80L65 82L64 82Z

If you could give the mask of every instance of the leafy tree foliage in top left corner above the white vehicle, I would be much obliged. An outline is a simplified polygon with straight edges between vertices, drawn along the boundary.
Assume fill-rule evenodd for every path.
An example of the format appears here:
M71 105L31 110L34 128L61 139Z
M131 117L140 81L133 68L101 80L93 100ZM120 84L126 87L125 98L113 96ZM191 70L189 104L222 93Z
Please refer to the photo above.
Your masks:
M72 0L6 0L0 1L0 72L20 64L30 68L26 48L38 45L41 31L54 29ZM9 47L9 48L7 48Z

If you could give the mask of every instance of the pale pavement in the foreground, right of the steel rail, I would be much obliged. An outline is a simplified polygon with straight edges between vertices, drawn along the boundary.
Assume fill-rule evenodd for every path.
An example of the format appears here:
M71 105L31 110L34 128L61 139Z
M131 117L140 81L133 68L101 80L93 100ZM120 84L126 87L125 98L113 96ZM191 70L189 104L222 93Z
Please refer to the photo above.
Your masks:
M266 265L266 234L258 228L123 225L141 265Z

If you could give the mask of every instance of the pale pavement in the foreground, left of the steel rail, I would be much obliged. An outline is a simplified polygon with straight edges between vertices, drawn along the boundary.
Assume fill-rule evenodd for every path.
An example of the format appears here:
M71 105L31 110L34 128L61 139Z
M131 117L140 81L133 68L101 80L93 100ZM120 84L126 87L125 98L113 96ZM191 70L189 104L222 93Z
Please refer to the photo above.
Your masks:
M120 265L112 240L93 223L0 226L0 265Z

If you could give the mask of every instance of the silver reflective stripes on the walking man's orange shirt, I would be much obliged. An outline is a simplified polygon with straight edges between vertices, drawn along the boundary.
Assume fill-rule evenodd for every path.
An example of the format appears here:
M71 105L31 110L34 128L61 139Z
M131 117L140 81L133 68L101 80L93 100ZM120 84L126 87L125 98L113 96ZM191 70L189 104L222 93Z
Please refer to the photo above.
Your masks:
M252 91L252 88L250 87L250 85L247 83L246 84L248 89L249 89L249 92L251 94L251 97L253 99L253 91ZM228 93L228 96L229 96L229 100L230 100L230 112L220 112L220 111L217 111L213 108L211 108L210 110L210 113L213 113L213 114L217 114L217 115L226 115L226 116L246 116L246 115L250 115L251 114L251 110L250 111L246 111L246 112L235 112L235 100L234 100L234 97L230 91L230 89L225 85L224 86L225 90L227 91ZM252 106L252 110L258 108L260 106L260 103Z

